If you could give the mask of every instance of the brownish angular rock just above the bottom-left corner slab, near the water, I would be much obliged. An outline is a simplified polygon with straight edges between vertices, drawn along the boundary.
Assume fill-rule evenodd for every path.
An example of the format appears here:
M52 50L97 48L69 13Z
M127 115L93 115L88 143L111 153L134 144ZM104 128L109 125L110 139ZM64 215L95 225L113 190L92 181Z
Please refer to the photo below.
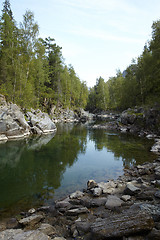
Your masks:
M30 226L33 227L37 223L39 223L44 217L42 215L32 215L26 218L22 218L19 220L19 223L23 226Z

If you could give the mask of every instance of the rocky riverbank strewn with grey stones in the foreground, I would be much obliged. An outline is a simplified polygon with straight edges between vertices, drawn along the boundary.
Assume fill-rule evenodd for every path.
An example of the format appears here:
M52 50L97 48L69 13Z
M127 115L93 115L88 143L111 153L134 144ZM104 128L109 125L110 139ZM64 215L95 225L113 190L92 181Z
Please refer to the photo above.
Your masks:
M1 222L0 239L160 239L160 158Z

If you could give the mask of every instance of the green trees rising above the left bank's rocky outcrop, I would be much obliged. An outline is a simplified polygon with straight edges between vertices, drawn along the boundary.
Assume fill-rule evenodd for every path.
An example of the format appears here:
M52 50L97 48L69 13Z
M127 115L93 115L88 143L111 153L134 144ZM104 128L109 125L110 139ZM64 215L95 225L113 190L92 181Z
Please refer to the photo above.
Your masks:
M27 10L16 26L9 0L0 18L0 93L22 107L85 107L88 88L53 38L38 38L39 26Z

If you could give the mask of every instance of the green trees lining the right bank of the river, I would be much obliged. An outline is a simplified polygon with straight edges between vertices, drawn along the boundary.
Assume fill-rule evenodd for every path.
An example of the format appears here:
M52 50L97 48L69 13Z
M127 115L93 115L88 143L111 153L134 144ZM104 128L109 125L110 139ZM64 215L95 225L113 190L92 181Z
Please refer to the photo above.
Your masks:
M126 109L160 102L160 20L152 25L152 39L122 74L90 89L89 110ZM105 89L106 101L102 89Z

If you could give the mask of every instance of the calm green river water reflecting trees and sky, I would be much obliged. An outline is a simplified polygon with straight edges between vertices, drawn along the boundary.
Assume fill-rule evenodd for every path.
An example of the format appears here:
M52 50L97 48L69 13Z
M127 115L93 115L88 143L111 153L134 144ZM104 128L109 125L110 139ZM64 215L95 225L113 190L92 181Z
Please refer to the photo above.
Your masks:
M0 213L52 204L86 182L116 179L124 167L156 158L153 141L62 124L56 135L0 144Z

